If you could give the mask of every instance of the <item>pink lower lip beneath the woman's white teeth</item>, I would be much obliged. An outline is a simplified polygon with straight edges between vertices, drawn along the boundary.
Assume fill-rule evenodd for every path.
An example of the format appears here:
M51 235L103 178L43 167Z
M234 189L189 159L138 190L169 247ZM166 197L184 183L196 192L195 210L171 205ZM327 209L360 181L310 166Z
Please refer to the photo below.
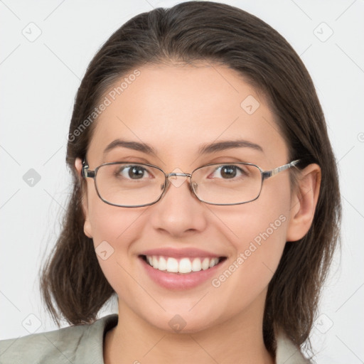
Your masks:
M214 277L218 269L225 262L225 260L223 260L214 267L206 270L200 270L199 272L181 274L155 269L151 267L142 257L139 257L139 259L141 260L141 264L143 264L146 273L149 275L149 277L151 277L151 279L153 279L154 282L164 288L178 290L191 289L203 284L208 279Z

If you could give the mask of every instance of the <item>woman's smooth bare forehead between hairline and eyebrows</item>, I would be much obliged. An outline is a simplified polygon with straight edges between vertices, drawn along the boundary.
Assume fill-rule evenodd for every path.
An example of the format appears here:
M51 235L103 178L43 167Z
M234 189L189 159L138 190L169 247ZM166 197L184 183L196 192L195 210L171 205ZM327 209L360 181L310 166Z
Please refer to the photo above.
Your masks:
M118 138L178 157L236 139L261 145L265 154L287 152L264 97L226 66L147 65L121 77L105 97L89 155L100 156Z

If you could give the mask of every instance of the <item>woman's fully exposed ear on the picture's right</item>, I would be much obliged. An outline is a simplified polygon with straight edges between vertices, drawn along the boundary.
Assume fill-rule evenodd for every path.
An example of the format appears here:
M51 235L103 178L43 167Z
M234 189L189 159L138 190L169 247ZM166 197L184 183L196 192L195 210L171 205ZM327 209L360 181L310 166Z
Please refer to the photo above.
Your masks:
M309 164L298 176L297 186L292 192L287 241L295 242L304 237L316 210L321 184L321 168L318 164Z

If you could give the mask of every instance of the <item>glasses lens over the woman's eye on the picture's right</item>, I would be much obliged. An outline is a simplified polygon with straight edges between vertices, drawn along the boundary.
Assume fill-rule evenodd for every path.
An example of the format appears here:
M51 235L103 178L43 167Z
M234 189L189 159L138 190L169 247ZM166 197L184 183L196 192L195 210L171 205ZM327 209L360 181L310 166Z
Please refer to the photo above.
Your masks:
M213 164L198 168L192 176L196 196L206 203L237 204L255 200L262 175L250 164Z

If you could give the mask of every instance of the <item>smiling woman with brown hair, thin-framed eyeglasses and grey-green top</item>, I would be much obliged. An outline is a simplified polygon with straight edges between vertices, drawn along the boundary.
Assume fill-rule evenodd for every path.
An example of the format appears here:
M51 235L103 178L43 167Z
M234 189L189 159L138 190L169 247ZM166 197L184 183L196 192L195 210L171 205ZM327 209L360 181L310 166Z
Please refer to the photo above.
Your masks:
M74 326L2 341L4 363L306 363L341 205L314 85L277 31L209 2L135 16L87 68L68 140L41 283Z

